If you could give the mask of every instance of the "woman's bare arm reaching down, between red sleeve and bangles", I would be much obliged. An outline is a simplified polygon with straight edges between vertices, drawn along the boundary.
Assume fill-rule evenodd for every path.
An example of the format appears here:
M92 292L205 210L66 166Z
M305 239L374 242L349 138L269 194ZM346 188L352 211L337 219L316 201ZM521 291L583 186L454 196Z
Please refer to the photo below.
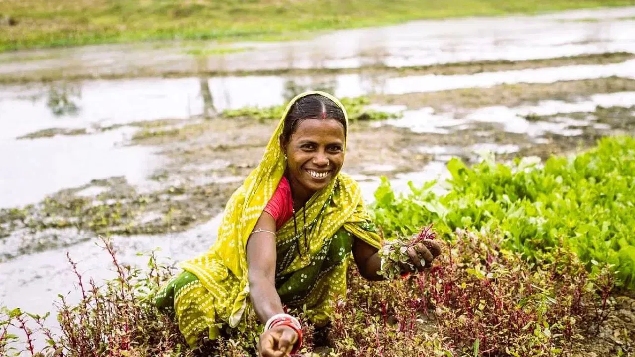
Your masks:
M276 231L276 220L263 212L253 231ZM252 233L247 241L247 265L251 305L262 323L284 313L276 291L276 236L269 232Z

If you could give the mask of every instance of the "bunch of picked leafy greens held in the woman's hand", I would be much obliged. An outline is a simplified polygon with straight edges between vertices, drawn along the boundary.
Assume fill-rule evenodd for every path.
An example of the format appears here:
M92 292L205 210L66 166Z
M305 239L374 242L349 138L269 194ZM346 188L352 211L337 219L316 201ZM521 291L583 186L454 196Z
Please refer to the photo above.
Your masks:
M427 248L427 241L434 239L436 233L432 231L432 224L423 227L418 233L412 236L398 235L396 238L390 239L384 243L379 250L379 256L382 259L379 273L385 278L392 280L401 274L402 266L409 266L414 269L415 266L410 261L408 249L419 243L424 243ZM425 262L422 262L425 265Z

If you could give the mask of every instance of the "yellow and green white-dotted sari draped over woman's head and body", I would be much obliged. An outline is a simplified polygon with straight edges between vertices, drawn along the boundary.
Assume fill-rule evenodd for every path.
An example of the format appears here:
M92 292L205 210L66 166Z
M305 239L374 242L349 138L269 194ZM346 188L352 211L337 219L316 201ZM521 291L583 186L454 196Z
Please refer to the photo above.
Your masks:
M279 147L284 118L298 98L311 94L330 98L347 118L344 106L328 93L310 91L293 98L267 144L260 165L227 202L215 244L207 253L179 264L184 272L157 293L157 306L175 315L190 346L196 346L202 333L217 339L225 325L237 327L244 322L246 309L251 308L247 239L286 168ZM324 325L335 299L346 293L353 239L380 248L380 237L364 208L358 184L344 173L316 192L305 205L305 212L295 213L295 220L297 235L293 219L276 234L276 289L283 304L304 308L313 323ZM305 229L306 243L300 227Z

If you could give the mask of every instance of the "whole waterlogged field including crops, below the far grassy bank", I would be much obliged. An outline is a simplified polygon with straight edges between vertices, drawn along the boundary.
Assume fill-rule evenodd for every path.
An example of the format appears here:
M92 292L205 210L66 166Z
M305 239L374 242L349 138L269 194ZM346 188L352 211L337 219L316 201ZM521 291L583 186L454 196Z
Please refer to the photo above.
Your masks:
M384 237L433 224L445 253L406 281L353 269L307 355L631 355L633 15L0 54L0 354L252 356L255 320L189 351L149 298L213 244L284 103L321 89Z

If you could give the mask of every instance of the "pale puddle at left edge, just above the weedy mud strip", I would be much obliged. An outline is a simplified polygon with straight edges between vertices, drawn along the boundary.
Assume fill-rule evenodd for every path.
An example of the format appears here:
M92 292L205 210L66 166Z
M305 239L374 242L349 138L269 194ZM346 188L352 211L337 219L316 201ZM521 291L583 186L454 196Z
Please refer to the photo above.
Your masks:
M159 167L160 159L150 147L119 144L133 131L121 128L95 135L36 140L3 138L0 207L37 203L48 194L93 179L124 176L131 185L141 184Z

